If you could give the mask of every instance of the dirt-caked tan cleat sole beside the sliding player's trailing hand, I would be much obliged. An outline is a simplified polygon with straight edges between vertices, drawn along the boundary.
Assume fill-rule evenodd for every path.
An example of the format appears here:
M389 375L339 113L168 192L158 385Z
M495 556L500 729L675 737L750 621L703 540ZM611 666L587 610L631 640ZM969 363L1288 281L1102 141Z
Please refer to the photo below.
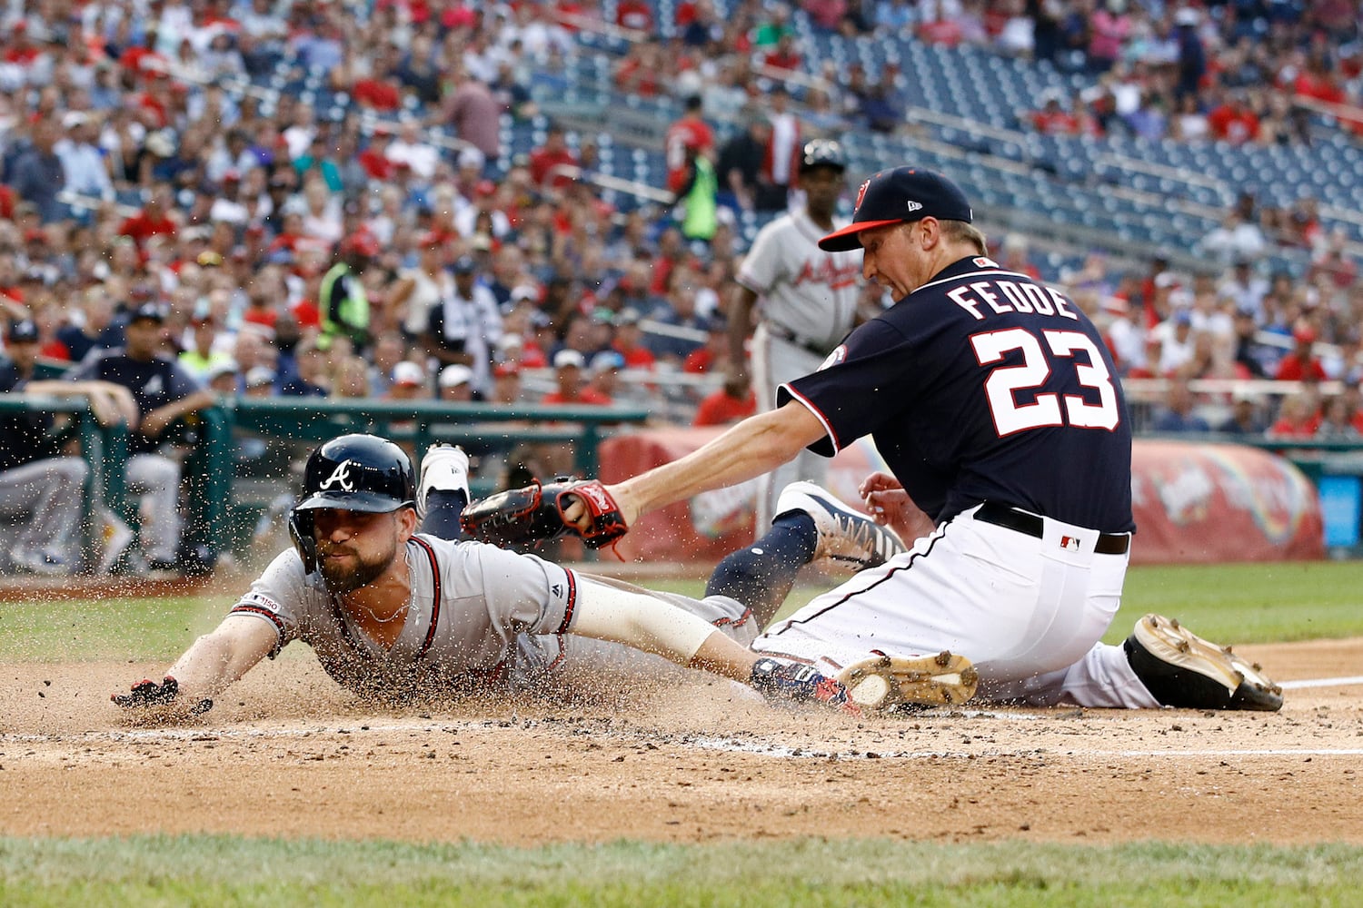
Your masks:
M848 700L870 712L895 707L958 707L975 696L980 675L965 656L875 656L848 666L837 679Z

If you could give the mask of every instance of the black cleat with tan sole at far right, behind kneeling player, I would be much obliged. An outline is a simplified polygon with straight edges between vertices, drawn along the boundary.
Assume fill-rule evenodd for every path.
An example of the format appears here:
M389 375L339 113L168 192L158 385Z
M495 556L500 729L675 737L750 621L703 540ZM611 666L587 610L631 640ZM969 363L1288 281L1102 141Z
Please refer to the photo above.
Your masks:
M1135 677L1161 705L1261 712L1283 708L1283 689L1258 664L1198 637L1174 618L1145 615L1123 648Z

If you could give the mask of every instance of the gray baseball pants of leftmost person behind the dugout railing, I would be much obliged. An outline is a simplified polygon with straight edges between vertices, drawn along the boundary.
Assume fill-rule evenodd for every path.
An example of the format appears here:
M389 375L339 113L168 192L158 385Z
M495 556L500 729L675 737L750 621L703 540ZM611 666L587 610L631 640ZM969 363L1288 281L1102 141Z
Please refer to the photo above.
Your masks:
M12 561L80 562L76 528L89 472L80 457L45 457L0 472L0 517L19 521Z

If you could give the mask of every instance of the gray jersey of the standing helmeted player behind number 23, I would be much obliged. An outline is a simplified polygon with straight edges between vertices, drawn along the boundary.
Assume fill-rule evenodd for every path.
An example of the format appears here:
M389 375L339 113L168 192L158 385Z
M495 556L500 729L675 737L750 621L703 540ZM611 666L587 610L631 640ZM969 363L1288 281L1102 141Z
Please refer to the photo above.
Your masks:
M825 233L803 210L781 215L758 231L737 280L761 297L763 323L827 353L852 331L861 253L823 252Z

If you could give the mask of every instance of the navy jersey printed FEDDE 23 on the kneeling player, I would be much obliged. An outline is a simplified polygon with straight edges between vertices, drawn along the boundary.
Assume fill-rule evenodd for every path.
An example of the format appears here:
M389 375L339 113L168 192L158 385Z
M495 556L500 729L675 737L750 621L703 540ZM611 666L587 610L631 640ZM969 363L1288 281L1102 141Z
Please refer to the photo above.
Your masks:
M1130 532L1131 429L1112 358L1060 293L962 259L782 385L831 456L863 436L938 523L996 501Z

